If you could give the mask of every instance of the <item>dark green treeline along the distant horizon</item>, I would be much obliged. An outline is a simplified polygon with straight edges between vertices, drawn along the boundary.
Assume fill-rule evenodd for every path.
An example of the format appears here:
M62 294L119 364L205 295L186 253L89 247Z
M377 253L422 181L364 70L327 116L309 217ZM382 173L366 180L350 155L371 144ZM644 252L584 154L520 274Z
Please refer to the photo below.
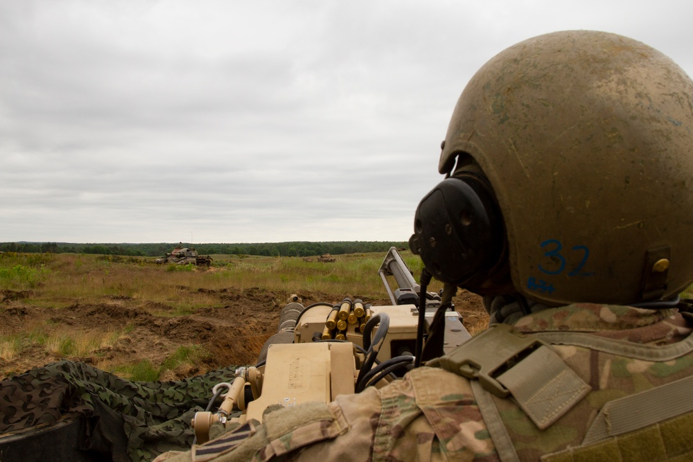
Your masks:
M2 242L0 251L26 254L98 254L122 256L164 256L176 246L193 247L200 255L259 255L308 257L322 254L342 255L368 252L385 252L390 247L407 248L407 242L261 242L255 244L197 244L166 242L150 244L71 244L67 242Z

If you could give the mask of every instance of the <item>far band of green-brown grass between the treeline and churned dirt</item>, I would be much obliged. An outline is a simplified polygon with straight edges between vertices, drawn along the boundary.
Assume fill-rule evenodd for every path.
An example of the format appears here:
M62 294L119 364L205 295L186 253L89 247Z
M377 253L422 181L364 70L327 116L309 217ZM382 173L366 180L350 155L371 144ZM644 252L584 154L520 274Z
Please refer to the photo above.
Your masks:
M5 254L6 255L6 254ZM402 252L419 278L421 259ZM378 268L383 254L338 256L335 263L298 257L213 256L211 269L191 265L155 265L153 258L122 260L94 255L15 255L0 258L0 287L24 290L41 286L31 303L60 308L74 303L117 299L170 305L173 314L192 313L218 300L204 290L261 287L276 292L301 290L337 294L358 293L380 299L385 295ZM175 269L171 269L171 267ZM203 289L202 291L199 291ZM434 289L432 289L434 290ZM169 312L169 314L172 314Z

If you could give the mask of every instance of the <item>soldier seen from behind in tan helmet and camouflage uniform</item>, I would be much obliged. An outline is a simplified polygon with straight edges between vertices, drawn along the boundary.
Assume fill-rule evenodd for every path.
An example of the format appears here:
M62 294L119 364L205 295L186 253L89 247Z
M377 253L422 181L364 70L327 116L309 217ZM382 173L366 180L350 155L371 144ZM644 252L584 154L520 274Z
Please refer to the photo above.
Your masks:
M693 82L658 51L591 31L502 51L457 101L446 179L410 240L433 276L482 294L497 327L192 456L690 460L693 320L678 294L693 280L692 146Z

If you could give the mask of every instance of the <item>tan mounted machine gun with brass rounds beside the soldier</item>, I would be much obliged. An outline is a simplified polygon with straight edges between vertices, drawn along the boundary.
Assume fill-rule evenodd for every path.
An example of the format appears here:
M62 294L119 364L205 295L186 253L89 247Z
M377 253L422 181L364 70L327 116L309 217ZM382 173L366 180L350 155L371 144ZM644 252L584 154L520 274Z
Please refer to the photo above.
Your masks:
M411 368L419 318L425 319L423 331L428 332L441 298L435 292L420 293L421 286L395 247L387 252L378 274L392 305L345 298L304 307L292 296L281 311L279 331L265 342L258 363L239 368L231 384L217 384L208 410L195 414L197 442L208 441L211 425L262 421L271 405L330 402L341 394L381 387ZM389 277L394 278L395 290ZM471 338L462 317L450 308L444 314L445 353ZM419 310L425 312L420 316ZM218 411L209 411L220 397Z

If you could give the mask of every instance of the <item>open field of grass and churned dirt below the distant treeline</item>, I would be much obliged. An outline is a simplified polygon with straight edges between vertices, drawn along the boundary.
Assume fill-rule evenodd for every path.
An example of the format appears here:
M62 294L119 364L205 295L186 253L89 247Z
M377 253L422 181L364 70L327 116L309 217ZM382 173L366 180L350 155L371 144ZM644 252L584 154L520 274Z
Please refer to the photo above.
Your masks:
M419 257L402 255L420 274ZM154 258L0 254L0 375L64 358L134 380L182 377L252 361L291 293L306 305L344 296L387 301L383 254L335 263L212 257L202 269Z

